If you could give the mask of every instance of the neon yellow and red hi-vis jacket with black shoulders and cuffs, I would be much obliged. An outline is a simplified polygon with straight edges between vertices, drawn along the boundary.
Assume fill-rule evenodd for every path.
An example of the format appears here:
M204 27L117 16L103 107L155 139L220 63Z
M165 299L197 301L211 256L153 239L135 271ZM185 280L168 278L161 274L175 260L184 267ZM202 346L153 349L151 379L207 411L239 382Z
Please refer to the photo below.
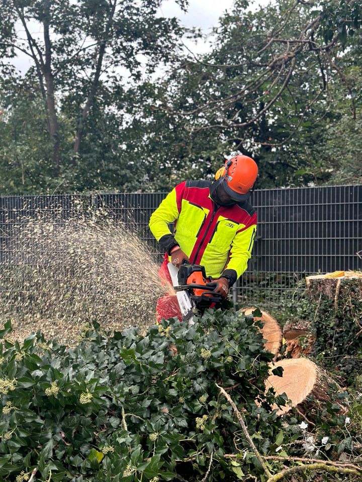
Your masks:
M151 215L149 227L168 254L179 245L191 263L205 266L207 276L223 274L231 286L250 258L256 211L247 202L218 206L210 198L210 185L210 181L178 184Z

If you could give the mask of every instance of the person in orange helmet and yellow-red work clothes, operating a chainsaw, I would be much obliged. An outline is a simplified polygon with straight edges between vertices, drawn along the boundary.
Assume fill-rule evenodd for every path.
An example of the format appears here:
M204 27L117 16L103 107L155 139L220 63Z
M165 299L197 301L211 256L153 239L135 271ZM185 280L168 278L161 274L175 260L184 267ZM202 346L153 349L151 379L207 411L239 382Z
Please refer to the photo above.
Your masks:
M250 157L225 162L212 181L185 181L163 199L149 227L165 251L159 275L171 283L167 264L184 260L205 267L214 292L226 298L244 273L256 233L256 211L248 203L258 169ZM169 224L174 223L173 233ZM159 299L157 320L178 316L175 300Z

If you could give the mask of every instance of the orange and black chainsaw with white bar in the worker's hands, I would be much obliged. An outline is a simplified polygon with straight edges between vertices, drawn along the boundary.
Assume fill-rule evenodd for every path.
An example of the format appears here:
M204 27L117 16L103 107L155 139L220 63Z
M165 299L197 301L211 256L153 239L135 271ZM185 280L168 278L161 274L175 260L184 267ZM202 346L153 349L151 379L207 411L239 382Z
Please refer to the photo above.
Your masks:
M193 324L195 308L205 309L222 301L222 295L215 293L212 286L206 285L211 280L206 278L204 266L186 262L179 269L171 263L168 263L167 268L184 321Z

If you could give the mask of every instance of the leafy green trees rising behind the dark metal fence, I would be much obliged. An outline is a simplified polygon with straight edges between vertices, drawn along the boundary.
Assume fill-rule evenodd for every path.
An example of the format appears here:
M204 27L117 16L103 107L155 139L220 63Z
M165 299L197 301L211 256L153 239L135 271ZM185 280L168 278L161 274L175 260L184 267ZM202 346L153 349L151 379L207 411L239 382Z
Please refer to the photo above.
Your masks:
M235 0L201 40L160 4L3 3L1 193L164 191L237 152L257 187L362 181L359 2Z

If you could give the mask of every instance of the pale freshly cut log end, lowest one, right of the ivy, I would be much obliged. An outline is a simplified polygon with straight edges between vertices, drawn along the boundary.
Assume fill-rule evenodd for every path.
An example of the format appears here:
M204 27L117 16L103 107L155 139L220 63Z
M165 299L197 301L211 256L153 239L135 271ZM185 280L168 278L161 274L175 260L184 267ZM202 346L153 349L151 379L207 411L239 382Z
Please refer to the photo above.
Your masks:
M283 367L283 377L273 375L272 370ZM340 387L328 375L307 358L292 358L270 364L270 375L265 381L265 388L273 388L277 395L286 393L291 405L286 405L278 410L278 415L284 415L292 407L297 407L303 413L309 412L311 402L306 398L312 395L316 401L325 402L330 400L328 391L330 385L334 385L334 393L340 391ZM312 402L313 403L313 402ZM341 410L344 410L340 405ZM274 406L273 408L278 408Z

